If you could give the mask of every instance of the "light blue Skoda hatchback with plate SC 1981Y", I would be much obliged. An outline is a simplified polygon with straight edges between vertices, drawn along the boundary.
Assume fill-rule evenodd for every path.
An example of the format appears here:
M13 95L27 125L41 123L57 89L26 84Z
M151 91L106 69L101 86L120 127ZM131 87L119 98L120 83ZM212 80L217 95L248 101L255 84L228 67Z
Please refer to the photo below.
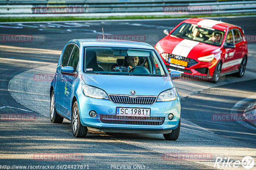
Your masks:
M180 134L180 97L154 47L143 42L72 39L50 87L50 119L71 121L72 133Z

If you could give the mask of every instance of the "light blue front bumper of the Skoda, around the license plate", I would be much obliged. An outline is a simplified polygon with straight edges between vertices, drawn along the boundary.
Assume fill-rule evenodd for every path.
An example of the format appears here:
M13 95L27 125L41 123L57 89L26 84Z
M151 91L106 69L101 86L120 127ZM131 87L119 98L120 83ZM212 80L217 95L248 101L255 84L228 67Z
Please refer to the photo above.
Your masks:
M106 132L127 133L170 133L176 129L180 121L180 98L168 102L156 102L153 105L115 104L110 100L96 99L80 95L78 99L79 115L82 125ZM100 121L100 115L116 115L116 107L150 108L150 117L165 117L161 125L141 124L109 124ZM96 117L90 117L89 112L96 111ZM168 115L174 115L172 120Z

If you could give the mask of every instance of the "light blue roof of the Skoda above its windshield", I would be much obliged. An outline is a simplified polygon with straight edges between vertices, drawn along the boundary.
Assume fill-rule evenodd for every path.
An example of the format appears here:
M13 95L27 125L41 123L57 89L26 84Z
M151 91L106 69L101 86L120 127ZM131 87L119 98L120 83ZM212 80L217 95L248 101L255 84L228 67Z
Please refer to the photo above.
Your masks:
M115 46L154 49L153 46L145 42L114 40L114 39L72 39L69 42L76 42L83 46Z

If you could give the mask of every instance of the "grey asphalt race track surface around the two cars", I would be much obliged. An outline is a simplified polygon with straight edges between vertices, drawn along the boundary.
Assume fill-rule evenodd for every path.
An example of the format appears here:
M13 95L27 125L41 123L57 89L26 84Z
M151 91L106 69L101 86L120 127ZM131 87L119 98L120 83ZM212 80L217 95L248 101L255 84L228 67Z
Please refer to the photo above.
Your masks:
M256 17L214 19L242 26L246 35L256 35ZM83 169L216 169L213 166L217 157L230 157L234 162L251 156L256 161L255 125L212 118L218 114L242 114L256 101L255 39L248 43L249 58L242 78L227 75L217 84L184 78L174 81L182 98L177 141L166 141L162 134L92 131L81 139L73 137L69 121L51 123L50 79L68 40L100 38L103 27L105 38L130 36L154 46L165 36L164 29L172 29L181 20L0 23L0 114L34 117L31 121L1 118L0 169L7 169L3 165L10 169L38 165L55 169L75 169L71 165L82 165ZM5 42L2 36L6 34L26 35L28 40ZM48 77L37 80L35 74ZM169 159L170 153L207 155L207 159ZM65 159L57 159L58 156ZM223 163L220 169L245 169L242 165L221 167Z

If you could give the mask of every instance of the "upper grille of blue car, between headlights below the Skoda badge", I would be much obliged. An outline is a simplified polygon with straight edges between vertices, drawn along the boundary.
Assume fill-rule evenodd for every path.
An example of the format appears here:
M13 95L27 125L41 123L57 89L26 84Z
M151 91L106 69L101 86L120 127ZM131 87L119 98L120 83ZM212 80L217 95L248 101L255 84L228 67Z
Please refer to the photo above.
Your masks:
M125 95L108 95L110 100L116 104L154 104L156 96L125 96Z

